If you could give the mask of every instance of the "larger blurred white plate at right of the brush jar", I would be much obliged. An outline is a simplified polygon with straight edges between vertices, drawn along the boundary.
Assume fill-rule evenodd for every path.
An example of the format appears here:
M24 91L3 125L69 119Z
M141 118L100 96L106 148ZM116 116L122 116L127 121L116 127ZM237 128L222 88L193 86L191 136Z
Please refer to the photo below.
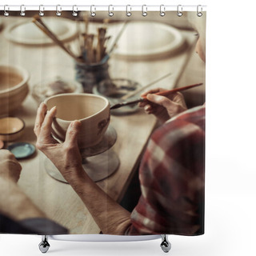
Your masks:
M112 42L122 26L109 26L108 34L112 35ZM161 22L129 22L113 54L130 60L164 58L176 54L184 43L185 38L172 26Z

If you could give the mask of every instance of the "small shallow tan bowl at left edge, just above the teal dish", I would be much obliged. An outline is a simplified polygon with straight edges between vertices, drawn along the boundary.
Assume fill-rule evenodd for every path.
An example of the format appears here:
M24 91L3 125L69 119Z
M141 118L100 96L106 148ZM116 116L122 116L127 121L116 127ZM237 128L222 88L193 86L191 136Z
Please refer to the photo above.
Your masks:
M18 139L25 128L25 122L21 118L0 118L0 140L12 142Z

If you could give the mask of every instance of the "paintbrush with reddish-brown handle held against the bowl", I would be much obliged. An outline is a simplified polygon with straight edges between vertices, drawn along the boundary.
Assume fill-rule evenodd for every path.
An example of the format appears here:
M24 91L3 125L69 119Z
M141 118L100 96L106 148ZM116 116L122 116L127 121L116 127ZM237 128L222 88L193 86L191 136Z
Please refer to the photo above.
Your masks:
M188 90L188 89L194 88L196 86L202 86L202 82L194 84L194 85L191 85L191 86L183 86L183 87L175 88L175 89L172 89L172 90L164 90L164 91L155 93L155 95L167 96L169 94L174 94L174 93L177 93L178 91L182 91L182 90ZM138 102L144 102L146 100L147 100L146 96L142 96L142 98L138 98L137 100L134 100L134 101L122 102L122 103L114 104L113 106L110 106L110 110L118 109L119 107L122 107L122 106L133 105L133 104L136 104Z

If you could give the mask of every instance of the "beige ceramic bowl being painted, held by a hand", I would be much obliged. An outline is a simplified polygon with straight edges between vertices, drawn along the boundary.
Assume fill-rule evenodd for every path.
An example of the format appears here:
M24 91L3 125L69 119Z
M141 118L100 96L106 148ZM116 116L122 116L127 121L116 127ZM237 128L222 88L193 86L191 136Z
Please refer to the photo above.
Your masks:
M110 123L110 103L102 96L94 94L58 94L45 100L47 109L57 107L52 125L53 135L64 141L71 121L82 123L78 134L78 146L94 146L102 141Z

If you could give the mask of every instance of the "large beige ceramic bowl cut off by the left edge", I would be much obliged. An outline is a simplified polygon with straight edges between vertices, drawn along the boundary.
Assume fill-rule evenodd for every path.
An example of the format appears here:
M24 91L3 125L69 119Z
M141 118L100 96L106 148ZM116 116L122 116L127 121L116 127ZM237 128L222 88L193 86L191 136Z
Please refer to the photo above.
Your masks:
M18 66L0 66L0 116L21 106L29 92L29 73Z

